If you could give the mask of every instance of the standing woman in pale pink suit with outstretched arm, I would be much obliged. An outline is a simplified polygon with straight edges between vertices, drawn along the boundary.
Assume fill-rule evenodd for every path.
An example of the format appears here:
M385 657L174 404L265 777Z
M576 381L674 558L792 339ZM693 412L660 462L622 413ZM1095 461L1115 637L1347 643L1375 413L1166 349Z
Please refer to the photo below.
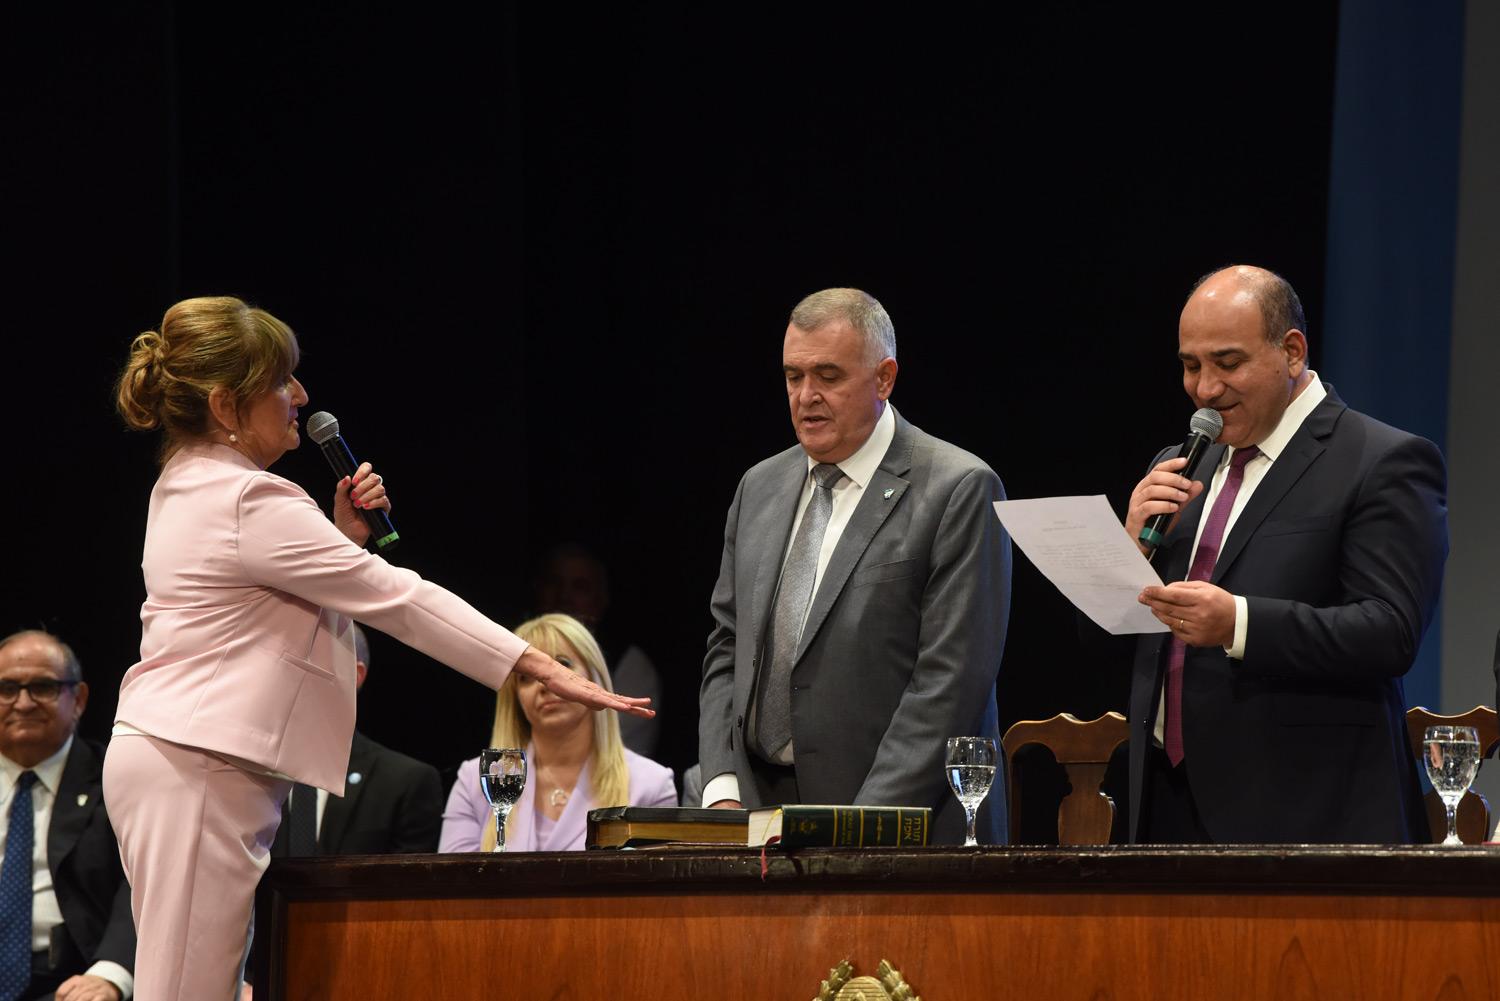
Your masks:
M298 444L297 357L270 314L189 299L135 339L117 387L128 425L165 432L141 564L141 660L122 681L104 768L140 1001L236 996L291 783L344 794L352 618L490 687L514 671L592 708L650 713L364 552L356 509L390 509L368 464L339 482L332 524L266 471Z

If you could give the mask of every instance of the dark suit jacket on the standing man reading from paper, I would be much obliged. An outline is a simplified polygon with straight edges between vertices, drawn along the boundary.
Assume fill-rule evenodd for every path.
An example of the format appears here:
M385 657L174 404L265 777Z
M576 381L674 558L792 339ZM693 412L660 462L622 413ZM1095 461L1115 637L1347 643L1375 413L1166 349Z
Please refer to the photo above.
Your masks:
M1443 456L1326 389L1214 567L1214 584L1246 599L1245 659L1188 648L1188 777L1220 842L1408 842L1425 830L1401 675L1448 558ZM1164 581L1188 573L1204 497L1162 542ZM1142 636L1131 677L1132 839L1166 650L1166 633Z

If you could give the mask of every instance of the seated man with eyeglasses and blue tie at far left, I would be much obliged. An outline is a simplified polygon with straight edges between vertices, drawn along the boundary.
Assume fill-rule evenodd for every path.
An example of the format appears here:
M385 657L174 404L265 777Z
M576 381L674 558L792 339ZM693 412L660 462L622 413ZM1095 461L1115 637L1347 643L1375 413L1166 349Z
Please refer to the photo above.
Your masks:
M74 737L88 686L39 630L0 639L0 998L123 1001L135 924L104 809L104 747Z

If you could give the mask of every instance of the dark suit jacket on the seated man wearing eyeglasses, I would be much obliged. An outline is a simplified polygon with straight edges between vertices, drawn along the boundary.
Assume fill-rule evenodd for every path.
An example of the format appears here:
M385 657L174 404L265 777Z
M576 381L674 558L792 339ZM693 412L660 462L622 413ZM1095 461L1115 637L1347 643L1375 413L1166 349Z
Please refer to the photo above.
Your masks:
M46 828L46 866L63 912L62 939L54 939L57 980L81 974L99 960L135 969L130 885L105 812L102 773L104 747L75 737ZM84 797L81 806L80 797Z

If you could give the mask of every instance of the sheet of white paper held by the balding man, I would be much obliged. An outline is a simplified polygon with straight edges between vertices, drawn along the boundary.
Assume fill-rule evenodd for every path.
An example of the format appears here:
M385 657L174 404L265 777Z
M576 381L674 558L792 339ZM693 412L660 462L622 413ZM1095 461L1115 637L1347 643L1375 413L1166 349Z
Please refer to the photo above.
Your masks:
M1116 635L1167 632L1136 600L1143 587L1161 584L1161 578L1102 494L994 501L994 513L1026 558L1101 627Z

